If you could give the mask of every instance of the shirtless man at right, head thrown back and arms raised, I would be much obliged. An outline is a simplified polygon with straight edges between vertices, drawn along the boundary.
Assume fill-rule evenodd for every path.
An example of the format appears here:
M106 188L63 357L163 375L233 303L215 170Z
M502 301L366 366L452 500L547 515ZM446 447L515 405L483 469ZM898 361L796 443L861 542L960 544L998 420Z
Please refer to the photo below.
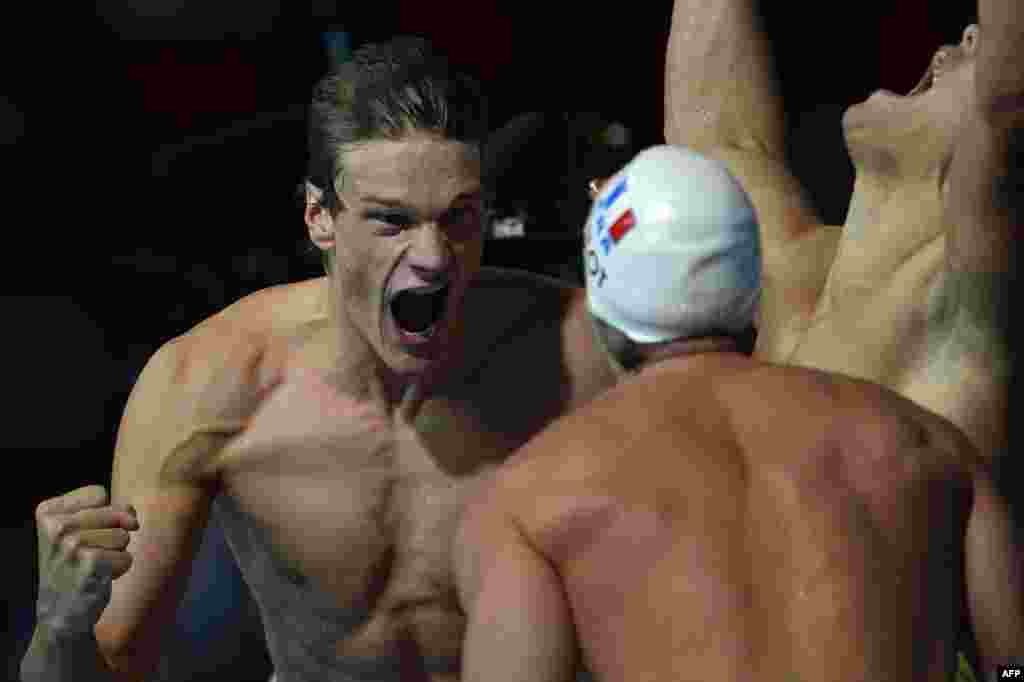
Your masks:
M759 356L879 382L948 418L986 457L1004 452L1001 325L1020 200L999 187L1020 172L1019 3L979 3L993 28L944 46L913 96L880 91L849 110L857 177L842 227L820 223L786 166L756 4L675 3L665 114L668 141L726 163L758 211Z

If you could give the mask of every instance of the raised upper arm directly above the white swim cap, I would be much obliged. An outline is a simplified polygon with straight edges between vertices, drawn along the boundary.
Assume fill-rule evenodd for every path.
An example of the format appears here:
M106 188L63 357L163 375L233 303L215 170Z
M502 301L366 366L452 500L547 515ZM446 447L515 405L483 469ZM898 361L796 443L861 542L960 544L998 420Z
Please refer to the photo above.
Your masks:
M755 0L677 0L666 56L666 139L783 154L783 114Z

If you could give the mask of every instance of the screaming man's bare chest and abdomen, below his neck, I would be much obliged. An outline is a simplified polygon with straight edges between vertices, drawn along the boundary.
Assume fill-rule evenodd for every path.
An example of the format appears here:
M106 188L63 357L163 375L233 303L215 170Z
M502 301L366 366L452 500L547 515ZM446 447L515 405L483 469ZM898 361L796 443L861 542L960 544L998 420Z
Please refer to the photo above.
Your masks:
M322 360L314 343L288 358ZM228 541L258 537L241 552L271 555L232 543L268 639L285 642L276 655L271 644L279 679L457 679L465 619L450 544L463 502L550 407L474 377L442 387L412 424L344 396L348 442L236 449L219 463L224 518L242 526L225 527ZM260 561L274 568L247 570Z

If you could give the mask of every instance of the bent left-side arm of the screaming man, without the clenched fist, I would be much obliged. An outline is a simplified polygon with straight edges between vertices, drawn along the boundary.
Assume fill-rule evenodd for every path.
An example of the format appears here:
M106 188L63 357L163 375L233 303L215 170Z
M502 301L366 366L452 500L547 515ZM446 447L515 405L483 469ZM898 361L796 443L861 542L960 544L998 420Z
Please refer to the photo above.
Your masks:
M94 633L37 624L26 681L140 680L159 663L209 512L203 466L238 428L225 406L238 404L240 373L214 372L190 347L171 343L151 358L122 418L111 503L137 515L130 568L114 581Z

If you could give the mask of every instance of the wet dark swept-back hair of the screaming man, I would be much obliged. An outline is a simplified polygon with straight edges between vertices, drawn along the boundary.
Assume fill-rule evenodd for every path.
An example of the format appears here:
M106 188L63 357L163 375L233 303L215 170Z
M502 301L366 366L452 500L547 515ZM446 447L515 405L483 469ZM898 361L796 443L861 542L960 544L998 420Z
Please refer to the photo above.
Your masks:
M313 86L305 179L323 190L322 204L334 213L349 145L422 131L482 146L487 125L478 82L454 70L426 40L364 45Z

